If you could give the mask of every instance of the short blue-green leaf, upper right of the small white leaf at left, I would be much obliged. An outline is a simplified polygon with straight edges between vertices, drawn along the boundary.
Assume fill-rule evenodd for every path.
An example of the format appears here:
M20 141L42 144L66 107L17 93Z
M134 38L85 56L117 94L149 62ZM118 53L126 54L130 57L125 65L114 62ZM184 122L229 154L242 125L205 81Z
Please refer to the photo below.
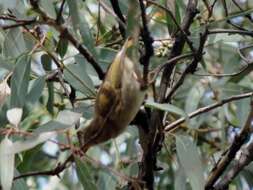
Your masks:
M41 96L43 89L45 86L45 77L39 77L37 78L31 88L28 91L28 94L26 96L26 100L30 103L35 103Z

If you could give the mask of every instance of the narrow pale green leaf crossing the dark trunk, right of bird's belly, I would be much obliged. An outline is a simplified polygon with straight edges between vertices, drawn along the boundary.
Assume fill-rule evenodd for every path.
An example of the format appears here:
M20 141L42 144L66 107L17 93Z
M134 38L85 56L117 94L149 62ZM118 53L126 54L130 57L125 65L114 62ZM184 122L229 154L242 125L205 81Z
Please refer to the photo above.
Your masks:
M160 104L160 103L156 103L154 101L147 100L145 102L145 107L155 108L155 109L175 113L180 116L185 116L185 112L182 109L180 109L172 104Z

